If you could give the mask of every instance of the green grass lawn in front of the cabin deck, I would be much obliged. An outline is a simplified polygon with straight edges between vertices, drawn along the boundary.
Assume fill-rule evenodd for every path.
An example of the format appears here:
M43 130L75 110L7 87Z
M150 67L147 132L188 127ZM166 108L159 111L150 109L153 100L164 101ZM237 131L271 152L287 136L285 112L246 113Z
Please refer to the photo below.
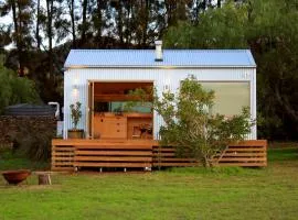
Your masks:
M17 187L1 178L0 219L296 220L298 146L268 153L266 168L53 175L52 186L33 175ZM0 158L0 168L11 160Z

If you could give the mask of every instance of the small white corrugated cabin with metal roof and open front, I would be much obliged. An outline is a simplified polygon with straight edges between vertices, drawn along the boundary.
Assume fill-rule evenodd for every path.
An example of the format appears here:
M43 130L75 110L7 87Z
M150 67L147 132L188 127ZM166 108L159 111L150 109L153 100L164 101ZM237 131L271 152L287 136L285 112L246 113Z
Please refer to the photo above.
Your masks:
M72 50L64 65L64 139L72 129L70 105L79 101L86 139L159 139L162 119L152 112L150 91L177 92L195 76L215 91L212 113L227 117L249 107L256 118L256 64L249 50ZM147 92L130 111L130 91ZM256 139L256 127L248 139Z

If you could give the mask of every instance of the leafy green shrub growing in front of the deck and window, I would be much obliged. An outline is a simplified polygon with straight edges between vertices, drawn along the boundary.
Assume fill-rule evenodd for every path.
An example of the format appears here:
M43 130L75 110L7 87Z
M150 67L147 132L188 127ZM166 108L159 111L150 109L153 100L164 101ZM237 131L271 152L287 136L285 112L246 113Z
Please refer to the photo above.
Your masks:
M164 121L161 145L173 145L180 154L190 153L210 167L216 153L243 140L253 125L248 108L231 118L211 114L213 99L214 92L204 90L193 76L181 82L178 95L168 91L156 98L153 108Z

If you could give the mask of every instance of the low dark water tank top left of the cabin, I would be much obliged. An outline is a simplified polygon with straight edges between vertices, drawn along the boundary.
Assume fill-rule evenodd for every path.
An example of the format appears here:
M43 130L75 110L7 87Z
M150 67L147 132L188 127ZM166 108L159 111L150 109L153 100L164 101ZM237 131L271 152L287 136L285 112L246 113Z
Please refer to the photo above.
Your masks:
M50 106L19 103L4 109L6 116L55 116L55 109Z

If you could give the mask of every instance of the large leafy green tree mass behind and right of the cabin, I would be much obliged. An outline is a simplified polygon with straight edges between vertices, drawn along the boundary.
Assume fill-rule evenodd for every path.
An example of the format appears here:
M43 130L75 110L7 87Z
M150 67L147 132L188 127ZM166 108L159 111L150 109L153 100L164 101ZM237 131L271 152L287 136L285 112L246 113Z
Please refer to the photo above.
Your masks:
M257 63L258 136L296 139L298 132L298 20L295 1L227 1L180 22L164 35L167 47L251 48Z

